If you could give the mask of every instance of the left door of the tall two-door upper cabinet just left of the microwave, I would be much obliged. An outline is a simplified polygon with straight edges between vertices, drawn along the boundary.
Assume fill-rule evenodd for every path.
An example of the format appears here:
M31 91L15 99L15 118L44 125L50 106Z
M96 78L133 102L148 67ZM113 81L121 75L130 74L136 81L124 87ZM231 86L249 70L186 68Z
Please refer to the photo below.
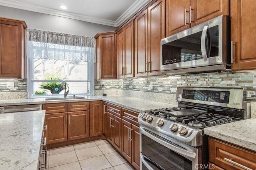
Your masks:
M135 77L148 76L148 10L134 20ZM160 45L160 44L159 44Z

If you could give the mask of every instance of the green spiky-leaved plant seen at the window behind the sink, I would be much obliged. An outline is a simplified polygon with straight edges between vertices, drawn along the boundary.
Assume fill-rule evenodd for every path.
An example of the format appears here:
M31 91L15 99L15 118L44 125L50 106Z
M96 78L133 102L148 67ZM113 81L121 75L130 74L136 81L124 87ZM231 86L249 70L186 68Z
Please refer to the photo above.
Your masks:
M46 80L62 80L62 79L58 77L56 78L50 77L50 78L46 78ZM52 94L59 94L62 91L60 86L61 86L61 82L43 82L40 84L41 89L50 90Z

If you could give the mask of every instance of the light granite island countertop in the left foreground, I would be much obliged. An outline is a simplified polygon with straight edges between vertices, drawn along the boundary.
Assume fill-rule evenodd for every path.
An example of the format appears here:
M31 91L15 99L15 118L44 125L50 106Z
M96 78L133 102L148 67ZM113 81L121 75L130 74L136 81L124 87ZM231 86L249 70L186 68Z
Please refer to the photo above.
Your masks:
M45 111L0 114L0 169L36 170Z

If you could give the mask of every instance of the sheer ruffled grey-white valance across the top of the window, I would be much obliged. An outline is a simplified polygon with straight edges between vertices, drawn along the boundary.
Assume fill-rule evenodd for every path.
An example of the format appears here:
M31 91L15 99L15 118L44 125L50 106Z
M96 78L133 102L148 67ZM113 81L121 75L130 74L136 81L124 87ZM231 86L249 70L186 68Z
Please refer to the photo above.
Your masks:
M31 58L94 62L95 39L64 33L26 29Z

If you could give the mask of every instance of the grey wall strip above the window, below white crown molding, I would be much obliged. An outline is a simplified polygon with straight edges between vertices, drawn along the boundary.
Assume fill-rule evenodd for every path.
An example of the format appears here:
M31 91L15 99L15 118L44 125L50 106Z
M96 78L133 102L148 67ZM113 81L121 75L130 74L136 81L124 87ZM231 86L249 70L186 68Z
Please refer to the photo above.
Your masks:
M0 6L0 17L26 21L29 29L41 29L72 35L94 37L97 33L115 31L116 27Z

